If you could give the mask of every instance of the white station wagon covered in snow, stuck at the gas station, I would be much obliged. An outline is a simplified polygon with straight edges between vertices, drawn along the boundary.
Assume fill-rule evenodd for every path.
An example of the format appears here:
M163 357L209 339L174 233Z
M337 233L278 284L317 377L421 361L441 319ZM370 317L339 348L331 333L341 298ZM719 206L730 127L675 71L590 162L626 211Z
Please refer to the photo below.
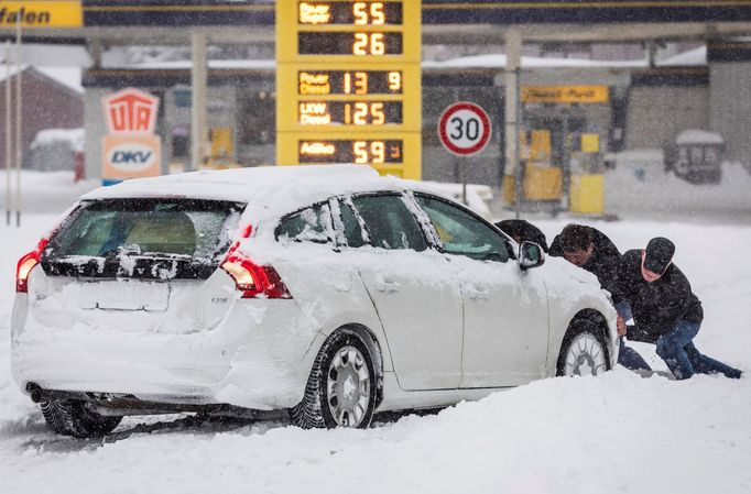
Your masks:
M367 427L611 369L608 294L544 261L363 166L128 180L19 261L12 372L54 430L89 437L171 411Z

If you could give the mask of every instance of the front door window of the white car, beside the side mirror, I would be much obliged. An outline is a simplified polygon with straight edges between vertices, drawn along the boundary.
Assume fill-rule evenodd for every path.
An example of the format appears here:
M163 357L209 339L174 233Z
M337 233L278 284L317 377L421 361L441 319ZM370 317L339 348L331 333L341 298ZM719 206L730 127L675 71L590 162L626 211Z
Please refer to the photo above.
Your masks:
M415 199L431 219L446 253L480 261L509 260L503 237L469 212L427 196L415 195Z

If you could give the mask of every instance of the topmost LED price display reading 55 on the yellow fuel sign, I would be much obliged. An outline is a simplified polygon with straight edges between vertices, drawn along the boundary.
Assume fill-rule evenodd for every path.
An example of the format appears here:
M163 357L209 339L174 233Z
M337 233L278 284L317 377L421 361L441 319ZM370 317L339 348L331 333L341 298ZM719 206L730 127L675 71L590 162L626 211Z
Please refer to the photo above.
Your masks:
M401 2L300 2L301 25L401 25Z

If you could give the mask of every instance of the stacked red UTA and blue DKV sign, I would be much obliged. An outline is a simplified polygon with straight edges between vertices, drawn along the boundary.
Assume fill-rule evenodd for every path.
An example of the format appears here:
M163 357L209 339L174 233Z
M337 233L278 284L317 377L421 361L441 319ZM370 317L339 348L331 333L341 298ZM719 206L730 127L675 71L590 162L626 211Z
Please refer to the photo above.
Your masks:
M102 98L109 133L102 139L102 178L160 174L162 143L155 135L159 98L128 88Z

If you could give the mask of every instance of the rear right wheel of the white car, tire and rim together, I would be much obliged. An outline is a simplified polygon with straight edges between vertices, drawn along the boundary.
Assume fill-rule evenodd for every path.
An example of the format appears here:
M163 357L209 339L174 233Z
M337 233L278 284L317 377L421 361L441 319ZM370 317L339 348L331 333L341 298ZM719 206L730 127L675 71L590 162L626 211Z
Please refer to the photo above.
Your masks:
M370 426L377 378L368 347L355 331L331 334L316 356L303 400L290 410L303 429Z

